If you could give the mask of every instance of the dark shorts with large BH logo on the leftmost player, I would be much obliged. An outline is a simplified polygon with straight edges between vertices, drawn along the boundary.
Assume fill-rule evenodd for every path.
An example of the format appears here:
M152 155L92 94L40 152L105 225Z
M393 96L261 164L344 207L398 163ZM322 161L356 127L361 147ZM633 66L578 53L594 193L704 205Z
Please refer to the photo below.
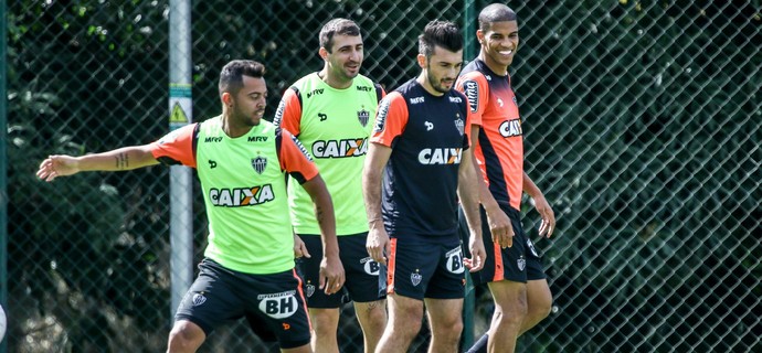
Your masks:
M214 328L241 318L260 338L277 340L282 349L309 343L307 303L295 270L251 275L203 259L174 320L191 321L209 336Z

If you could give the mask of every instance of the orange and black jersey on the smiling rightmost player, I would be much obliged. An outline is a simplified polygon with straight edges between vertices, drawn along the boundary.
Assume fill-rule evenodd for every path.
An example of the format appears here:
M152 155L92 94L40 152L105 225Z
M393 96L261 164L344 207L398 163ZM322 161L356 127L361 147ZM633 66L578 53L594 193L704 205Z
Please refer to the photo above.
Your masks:
M473 124L480 126L474 150L495 200L520 210L523 185L523 133L510 76L495 74L476 58L461 72L455 88L468 97Z

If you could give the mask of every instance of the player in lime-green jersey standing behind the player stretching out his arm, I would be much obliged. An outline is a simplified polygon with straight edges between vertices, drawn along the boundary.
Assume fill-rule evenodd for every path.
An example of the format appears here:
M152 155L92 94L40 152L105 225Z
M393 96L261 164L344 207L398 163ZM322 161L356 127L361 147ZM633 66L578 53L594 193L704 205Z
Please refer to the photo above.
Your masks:
M373 352L387 325L385 292L379 288L379 264L368 256L368 220L362 201L362 164L372 130L371 117L384 93L360 74L363 45L360 28L347 19L334 19L320 30L318 54L322 69L298 79L286 90L275 124L298 137L311 153L334 200L339 254L345 266L346 292L354 301L354 313L364 341ZM308 193L296 183L288 185L294 231L306 245L301 258L307 304L313 319L313 347L338 353L337 330L341 293L327 296L315 290L319 278L322 244ZM298 250L298 249L297 249Z

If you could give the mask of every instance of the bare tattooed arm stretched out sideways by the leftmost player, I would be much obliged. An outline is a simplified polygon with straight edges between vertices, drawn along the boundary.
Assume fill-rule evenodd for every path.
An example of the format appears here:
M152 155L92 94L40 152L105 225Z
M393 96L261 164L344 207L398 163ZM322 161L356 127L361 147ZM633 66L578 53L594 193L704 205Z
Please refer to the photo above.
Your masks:
M53 181L57 176L73 175L86 171L120 171L158 164L149 145L130 146L107 152L71 157L50 156L40 163L38 178Z

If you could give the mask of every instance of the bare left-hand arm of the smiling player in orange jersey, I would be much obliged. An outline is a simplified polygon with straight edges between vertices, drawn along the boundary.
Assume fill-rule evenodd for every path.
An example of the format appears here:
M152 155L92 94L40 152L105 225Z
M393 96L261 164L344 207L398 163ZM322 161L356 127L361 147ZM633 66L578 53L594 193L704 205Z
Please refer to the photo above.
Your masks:
M478 126L472 126L472 150L476 150L476 147L479 145L479 130L480 128ZM502 212L502 208L500 208L500 205L489 191L489 186L487 186L487 183L484 181L484 179L481 179L481 170L479 169L479 164L476 162L476 158L472 158L472 164L476 171L479 202L487 213L487 222L489 223L489 231L493 236L493 242L495 244L499 244L502 248L511 247L514 246L514 226L510 224L510 218L508 218L508 215Z

